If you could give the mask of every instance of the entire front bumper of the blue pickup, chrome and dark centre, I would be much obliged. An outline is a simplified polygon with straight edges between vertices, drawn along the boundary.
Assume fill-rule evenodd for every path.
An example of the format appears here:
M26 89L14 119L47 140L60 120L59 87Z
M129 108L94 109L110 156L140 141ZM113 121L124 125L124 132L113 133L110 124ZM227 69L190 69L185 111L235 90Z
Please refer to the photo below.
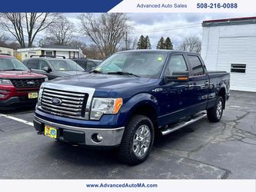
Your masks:
M57 139L60 141L69 141L77 144L95 147L115 147L121 144L121 138L124 134L125 127L118 128L91 128L91 127L74 127L65 124L58 124L46 121L35 116L34 127L40 134L44 134L45 125L57 128ZM103 140L95 142L95 134L101 134Z

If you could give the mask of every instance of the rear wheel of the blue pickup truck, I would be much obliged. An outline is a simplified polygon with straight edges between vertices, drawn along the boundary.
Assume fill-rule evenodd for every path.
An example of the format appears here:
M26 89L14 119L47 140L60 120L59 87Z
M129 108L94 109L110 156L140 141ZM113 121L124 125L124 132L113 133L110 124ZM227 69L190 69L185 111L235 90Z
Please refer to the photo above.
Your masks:
M214 107L209 108L207 110L207 117L210 122L218 122L221 121L222 113L223 113L224 101L221 96L218 96L216 104Z

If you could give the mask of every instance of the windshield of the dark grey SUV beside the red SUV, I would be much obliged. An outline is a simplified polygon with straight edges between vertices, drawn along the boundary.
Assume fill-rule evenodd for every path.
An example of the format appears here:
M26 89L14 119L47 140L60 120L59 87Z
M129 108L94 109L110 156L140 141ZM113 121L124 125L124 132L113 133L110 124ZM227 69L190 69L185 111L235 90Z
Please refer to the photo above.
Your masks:
M52 59L50 62L55 71L85 71L75 61L69 59Z

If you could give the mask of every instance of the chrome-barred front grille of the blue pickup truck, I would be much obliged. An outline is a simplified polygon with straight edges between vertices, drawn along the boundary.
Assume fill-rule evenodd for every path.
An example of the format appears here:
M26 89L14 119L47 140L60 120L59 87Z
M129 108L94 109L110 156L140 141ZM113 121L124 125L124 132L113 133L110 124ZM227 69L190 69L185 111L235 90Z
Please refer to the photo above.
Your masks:
M44 88L41 110L68 118L85 118L85 113L88 112L85 110L87 101L86 93Z

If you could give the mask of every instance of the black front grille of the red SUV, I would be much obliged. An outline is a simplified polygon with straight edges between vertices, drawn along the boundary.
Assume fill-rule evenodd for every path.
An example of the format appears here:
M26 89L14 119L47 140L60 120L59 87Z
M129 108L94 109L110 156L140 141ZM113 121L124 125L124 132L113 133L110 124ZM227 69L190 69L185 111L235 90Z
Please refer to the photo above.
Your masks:
M11 79L11 81L15 88L39 88L45 79Z

